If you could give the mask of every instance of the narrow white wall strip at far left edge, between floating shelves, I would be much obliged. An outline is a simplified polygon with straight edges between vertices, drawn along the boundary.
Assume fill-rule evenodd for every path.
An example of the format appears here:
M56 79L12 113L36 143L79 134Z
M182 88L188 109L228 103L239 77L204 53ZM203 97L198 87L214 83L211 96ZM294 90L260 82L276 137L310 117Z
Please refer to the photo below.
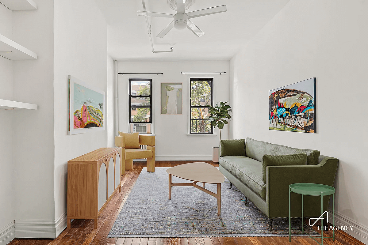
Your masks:
M13 37L12 16L12 12L0 4L0 34L10 39ZM3 57L0 57L0 98L13 100L13 61ZM14 238L12 115L12 111L0 110L0 244L6 244Z

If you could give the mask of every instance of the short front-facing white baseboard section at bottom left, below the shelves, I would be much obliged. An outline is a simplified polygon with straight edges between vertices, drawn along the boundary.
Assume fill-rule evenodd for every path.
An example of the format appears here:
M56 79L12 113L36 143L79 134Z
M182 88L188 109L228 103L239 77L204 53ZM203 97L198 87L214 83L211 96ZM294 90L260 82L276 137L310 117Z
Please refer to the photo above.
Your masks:
M56 238L55 220L15 220L15 237Z

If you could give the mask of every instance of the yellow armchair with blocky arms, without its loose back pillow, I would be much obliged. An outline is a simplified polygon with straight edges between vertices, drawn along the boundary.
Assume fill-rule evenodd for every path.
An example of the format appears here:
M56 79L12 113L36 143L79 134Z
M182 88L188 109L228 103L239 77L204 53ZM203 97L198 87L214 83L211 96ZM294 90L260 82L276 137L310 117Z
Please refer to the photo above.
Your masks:
M133 159L147 159L147 171L155 172L155 136L139 135L139 144L146 145L146 149L125 149L125 137L115 136L115 146L121 147L120 174L133 169Z

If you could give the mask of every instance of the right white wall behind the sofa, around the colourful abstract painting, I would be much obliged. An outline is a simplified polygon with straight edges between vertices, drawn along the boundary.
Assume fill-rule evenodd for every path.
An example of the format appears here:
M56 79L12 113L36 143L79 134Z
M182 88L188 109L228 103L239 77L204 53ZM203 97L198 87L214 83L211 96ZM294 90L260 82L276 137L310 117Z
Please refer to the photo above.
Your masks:
M233 138L318 149L340 160L337 221L368 242L368 1L292 0L231 61ZM268 91L317 78L317 133L268 129Z

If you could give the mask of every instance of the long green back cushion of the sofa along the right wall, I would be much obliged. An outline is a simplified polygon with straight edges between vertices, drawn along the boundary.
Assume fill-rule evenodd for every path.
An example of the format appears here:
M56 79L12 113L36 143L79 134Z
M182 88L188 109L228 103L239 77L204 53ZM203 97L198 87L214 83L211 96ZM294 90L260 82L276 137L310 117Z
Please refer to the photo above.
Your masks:
M245 155L262 162L263 155L289 155L289 154L307 154L307 165L318 164L319 151L308 149L291 148L284 145L276 145L268 142L245 139Z

